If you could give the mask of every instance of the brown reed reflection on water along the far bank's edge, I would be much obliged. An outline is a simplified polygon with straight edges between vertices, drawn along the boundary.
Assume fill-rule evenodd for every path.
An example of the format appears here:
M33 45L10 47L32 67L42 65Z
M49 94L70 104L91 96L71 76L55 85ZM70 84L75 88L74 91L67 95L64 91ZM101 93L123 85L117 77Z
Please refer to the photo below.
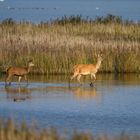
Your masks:
M51 84L69 84L69 77L68 75L29 75L30 83L51 83ZM82 79L82 82L85 84L89 82L90 77L85 77ZM0 81L5 81L5 75L0 75ZM76 83L77 81L72 81L71 84ZM116 85L117 83L121 84L130 84L136 85L140 84L140 74L98 74L96 83L100 84L109 84L109 85Z

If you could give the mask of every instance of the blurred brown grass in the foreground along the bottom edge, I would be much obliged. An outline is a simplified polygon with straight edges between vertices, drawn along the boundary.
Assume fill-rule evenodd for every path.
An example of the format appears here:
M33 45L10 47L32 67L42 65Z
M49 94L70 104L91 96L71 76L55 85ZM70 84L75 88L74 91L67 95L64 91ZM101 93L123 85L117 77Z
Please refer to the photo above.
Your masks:
M90 133L59 134L56 129L38 131L35 126L27 127L26 123L16 126L14 122L0 121L0 140L140 140L139 135L127 135L122 133L118 136L98 135Z

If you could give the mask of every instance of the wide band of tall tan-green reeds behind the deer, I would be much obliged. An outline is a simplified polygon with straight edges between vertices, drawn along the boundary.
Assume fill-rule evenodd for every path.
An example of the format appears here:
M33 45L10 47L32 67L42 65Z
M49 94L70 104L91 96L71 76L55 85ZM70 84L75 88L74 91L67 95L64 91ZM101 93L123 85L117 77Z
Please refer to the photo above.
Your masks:
M140 72L140 24L107 16L95 20L64 17L33 24L0 23L0 71L33 59L38 74L64 74L77 63L95 63L103 53L101 72Z

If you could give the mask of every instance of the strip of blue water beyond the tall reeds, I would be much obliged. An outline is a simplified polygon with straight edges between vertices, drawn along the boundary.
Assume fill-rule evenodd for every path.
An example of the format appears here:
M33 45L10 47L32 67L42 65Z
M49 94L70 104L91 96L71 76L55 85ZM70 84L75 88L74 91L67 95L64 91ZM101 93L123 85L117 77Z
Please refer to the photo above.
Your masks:
M32 22L53 20L64 15L95 18L113 14L140 21L140 0L4 0L0 20L13 18Z

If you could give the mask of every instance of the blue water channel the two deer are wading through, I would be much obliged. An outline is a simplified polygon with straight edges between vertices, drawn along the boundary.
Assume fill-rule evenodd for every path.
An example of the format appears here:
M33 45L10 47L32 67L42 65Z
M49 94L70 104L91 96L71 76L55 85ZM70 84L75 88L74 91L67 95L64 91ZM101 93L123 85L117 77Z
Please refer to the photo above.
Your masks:
M39 129L57 128L94 134L140 133L139 75L98 75L94 87L64 76L29 77L30 84L0 82L0 118L23 120Z

